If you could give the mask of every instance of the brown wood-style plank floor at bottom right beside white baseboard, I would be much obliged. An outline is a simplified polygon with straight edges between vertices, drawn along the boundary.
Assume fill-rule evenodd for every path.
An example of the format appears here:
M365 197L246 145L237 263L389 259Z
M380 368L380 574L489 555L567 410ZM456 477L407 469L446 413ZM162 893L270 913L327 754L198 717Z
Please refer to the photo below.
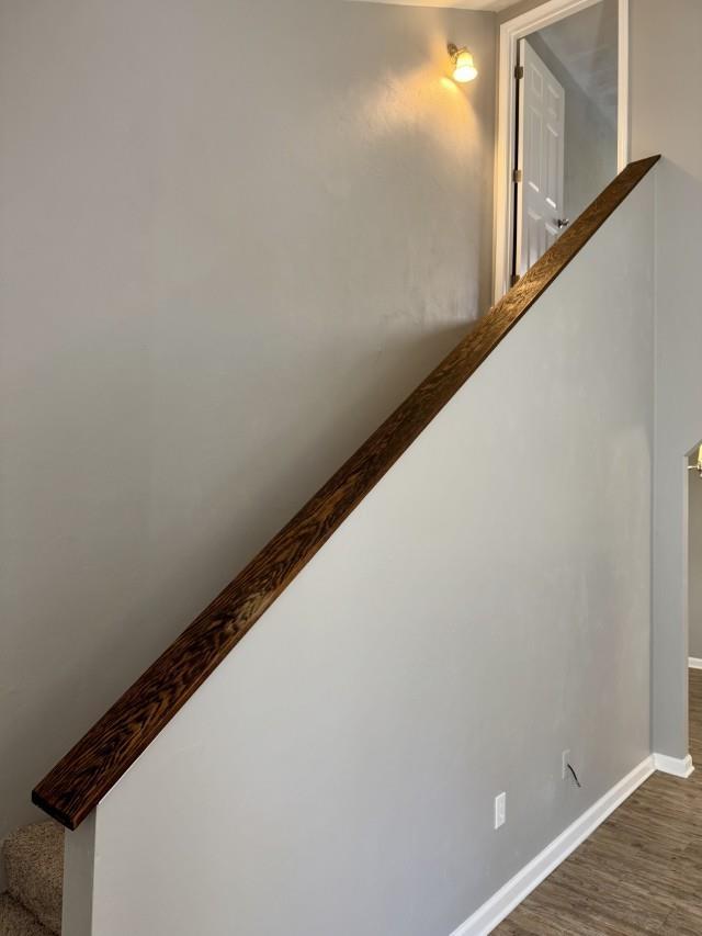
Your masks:
M702 936L702 670L690 670L688 780L654 774L494 931Z

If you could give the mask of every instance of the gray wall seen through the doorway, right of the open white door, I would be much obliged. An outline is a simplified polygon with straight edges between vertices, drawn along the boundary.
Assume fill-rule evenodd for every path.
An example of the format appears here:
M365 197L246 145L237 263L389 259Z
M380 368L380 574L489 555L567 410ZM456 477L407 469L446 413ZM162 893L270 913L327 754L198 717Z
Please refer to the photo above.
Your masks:
M565 213L575 221L616 176L616 125L605 119L540 33L530 35L529 43L565 90Z

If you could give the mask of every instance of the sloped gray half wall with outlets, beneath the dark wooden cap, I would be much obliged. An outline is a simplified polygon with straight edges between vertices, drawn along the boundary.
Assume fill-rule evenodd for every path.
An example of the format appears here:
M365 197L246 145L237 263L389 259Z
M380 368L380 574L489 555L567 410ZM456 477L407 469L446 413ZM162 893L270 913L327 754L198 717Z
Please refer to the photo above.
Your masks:
M94 936L449 936L648 757L654 188L100 803Z

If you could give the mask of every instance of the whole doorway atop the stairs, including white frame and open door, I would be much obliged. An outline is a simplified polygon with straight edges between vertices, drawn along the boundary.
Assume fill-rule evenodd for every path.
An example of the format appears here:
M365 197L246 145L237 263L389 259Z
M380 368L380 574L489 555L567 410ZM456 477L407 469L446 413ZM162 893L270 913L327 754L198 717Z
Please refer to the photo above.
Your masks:
M495 300L629 161L629 0L547 0L500 26Z

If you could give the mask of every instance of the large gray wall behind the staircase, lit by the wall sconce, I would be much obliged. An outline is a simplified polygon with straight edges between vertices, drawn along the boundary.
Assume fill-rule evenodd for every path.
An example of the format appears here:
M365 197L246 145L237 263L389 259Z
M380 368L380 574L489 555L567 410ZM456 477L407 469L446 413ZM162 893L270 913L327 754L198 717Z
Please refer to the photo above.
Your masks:
M0 0L0 838L486 307L494 54L490 14Z

